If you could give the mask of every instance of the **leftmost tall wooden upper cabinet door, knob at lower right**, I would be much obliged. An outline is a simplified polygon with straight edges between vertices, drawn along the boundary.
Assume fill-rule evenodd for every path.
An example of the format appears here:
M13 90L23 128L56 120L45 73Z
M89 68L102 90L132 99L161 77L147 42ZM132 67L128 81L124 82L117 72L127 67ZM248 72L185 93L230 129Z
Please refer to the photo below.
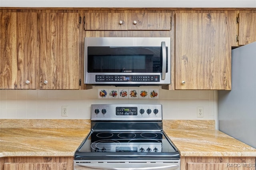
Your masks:
M37 14L0 12L0 89L36 89Z

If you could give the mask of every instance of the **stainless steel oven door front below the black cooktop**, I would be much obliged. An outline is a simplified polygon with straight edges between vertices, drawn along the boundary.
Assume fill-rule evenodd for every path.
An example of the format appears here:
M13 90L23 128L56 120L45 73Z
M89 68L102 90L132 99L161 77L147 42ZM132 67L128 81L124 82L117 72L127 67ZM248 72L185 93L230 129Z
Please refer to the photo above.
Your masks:
M74 160L74 170L180 170L180 160Z

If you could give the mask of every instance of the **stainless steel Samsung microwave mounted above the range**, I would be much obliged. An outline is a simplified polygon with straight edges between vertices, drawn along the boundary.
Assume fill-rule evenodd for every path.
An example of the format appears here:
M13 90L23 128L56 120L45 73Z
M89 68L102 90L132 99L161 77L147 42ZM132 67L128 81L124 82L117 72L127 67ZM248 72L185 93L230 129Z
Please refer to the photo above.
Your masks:
M84 68L89 85L168 85L171 38L84 38Z

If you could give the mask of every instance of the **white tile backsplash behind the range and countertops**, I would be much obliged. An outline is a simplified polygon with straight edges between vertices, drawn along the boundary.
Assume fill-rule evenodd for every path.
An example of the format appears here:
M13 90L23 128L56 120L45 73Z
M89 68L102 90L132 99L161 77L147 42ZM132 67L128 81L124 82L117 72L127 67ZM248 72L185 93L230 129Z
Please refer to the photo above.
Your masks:
M90 105L98 103L157 103L163 106L163 119L218 119L216 91L158 89L158 99L100 99L98 93L99 89L0 90L0 119L90 119ZM68 106L68 117L61 116L62 106ZM197 117L197 107L203 107L204 117Z

